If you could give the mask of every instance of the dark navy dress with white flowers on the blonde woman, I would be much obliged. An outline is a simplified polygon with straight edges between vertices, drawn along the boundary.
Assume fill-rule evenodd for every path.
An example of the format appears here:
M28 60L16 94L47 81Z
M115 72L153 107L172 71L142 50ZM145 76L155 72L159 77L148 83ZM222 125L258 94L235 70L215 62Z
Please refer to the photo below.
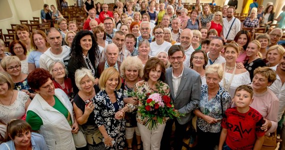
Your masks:
M125 140L125 119L115 119L115 112L124 106L122 89L115 90L114 93L117 99L118 109L114 106L116 102L111 102L105 90L100 90L93 97L95 123L98 127L104 125L108 135L115 141L113 146L106 147L106 149L123 149Z

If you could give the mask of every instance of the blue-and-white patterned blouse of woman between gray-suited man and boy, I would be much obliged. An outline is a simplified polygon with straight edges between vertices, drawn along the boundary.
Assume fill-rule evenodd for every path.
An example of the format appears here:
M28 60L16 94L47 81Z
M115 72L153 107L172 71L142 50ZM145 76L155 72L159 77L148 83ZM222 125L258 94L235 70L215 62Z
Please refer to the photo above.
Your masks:
M223 92L223 93L222 93ZM221 95L222 94L222 95ZM222 101L220 101L222 99ZM230 107L231 105L231 99L229 93L219 86L219 89L217 91L217 94L215 97L208 100L208 85L204 84L201 86L201 99L199 104L199 110L208 116L211 116L213 118L222 118L222 110L224 111ZM222 108L221 108L222 103ZM221 130L220 121L214 124L209 124L204 119L198 117L197 118L197 126L204 132L213 132L217 133Z

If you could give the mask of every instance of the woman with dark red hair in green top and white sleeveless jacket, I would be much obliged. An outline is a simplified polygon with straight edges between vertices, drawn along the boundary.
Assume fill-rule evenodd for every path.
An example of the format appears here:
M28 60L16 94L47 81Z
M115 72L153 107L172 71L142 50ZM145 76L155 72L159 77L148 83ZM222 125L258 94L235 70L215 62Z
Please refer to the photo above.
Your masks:
M79 128L68 96L63 90L54 89L51 75L43 68L34 69L27 80L37 93L26 112L32 130L43 136L48 149L75 150L72 133L77 133Z

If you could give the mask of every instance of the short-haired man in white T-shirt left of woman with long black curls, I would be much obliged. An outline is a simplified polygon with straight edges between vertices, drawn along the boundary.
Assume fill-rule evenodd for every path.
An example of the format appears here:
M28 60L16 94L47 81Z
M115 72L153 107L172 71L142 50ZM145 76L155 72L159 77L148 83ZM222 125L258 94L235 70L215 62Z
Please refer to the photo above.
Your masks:
M61 46L62 36L60 32L56 28L51 27L46 31L46 40L50 47L40 55L39 67L47 70L54 61L61 61L67 66L70 57L70 47L66 45Z

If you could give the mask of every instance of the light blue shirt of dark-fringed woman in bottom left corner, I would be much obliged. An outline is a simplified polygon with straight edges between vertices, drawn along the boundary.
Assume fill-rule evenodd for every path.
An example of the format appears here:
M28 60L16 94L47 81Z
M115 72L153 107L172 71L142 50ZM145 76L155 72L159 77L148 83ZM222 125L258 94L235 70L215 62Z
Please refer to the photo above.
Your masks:
M30 141L31 141L32 150L47 150L47 146L46 146L46 143L45 143L42 135L40 135L38 133L35 133L35 132L31 132ZM13 150L13 149L16 149L14 141L13 140L9 140L7 142L1 143L0 144L0 149L1 150L8 150L8 149Z

